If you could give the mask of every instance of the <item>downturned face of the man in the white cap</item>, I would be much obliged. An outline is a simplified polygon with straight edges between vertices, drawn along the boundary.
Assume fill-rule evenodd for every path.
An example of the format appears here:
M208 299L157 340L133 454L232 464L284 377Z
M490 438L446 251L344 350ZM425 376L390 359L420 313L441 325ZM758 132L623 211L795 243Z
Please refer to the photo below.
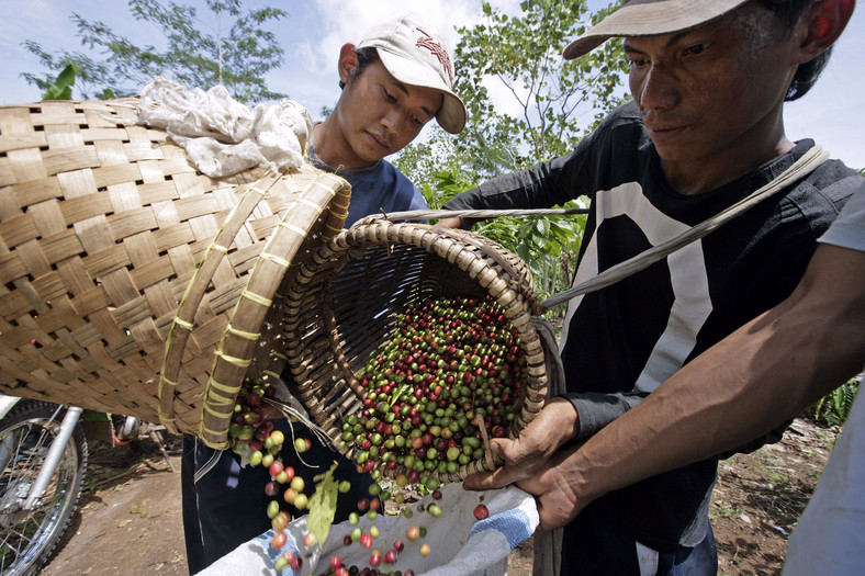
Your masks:
M441 108L442 94L397 81L381 60L352 78L339 99L344 166L368 166L401 150Z

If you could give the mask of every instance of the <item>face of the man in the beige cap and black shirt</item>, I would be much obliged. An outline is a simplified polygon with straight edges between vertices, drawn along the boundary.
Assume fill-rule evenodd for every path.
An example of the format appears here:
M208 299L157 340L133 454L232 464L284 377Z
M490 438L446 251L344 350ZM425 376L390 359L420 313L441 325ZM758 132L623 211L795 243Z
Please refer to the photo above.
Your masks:
M625 38L631 94L663 160L734 161L783 137L795 65L777 26L745 8L689 32Z

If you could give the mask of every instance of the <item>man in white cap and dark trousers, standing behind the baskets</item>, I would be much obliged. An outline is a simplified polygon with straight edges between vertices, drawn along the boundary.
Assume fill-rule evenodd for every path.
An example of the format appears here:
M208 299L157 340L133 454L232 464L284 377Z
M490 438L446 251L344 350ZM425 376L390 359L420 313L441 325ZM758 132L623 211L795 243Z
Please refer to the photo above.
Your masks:
M452 89L453 64L438 31L413 14L384 22L369 30L357 46L342 46L338 74L339 101L315 125L306 153L314 166L351 184L346 224L382 211L426 208L417 188L383 158L412 142L434 117L451 134L465 125L465 106ZM290 380L288 374L283 377ZM308 438L312 449L299 458L287 442L283 463L305 479L310 492L314 477L338 461L335 477L351 483L351 492L340 494L337 502L335 520L345 520L357 510L358 500L369 496L372 478L359 474L351 462L318 442L302 425L293 426L294 434ZM274 420L274 427L293 438L284 418ZM181 471L190 574L270 528L270 498L265 494L270 474L262 466L241 467L234 452L213 450L188 437Z

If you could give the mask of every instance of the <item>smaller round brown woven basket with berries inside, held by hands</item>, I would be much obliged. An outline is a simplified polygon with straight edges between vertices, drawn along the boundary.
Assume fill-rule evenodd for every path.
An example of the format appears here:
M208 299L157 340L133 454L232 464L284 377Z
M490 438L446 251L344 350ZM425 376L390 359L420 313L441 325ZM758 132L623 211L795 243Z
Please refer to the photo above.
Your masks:
M539 303L523 260L469 231L386 221L358 224L311 255L285 294L285 353L297 394L340 452L349 458L358 452L340 441L341 425L363 409L366 391L357 373L396 329L400 312L428 298L487 294L518 330L528 360L526 392L508 431L513 438L540 411L548 380L544 349L531 323ZM456 474L429 474L457 482L498 464L484 459Z

